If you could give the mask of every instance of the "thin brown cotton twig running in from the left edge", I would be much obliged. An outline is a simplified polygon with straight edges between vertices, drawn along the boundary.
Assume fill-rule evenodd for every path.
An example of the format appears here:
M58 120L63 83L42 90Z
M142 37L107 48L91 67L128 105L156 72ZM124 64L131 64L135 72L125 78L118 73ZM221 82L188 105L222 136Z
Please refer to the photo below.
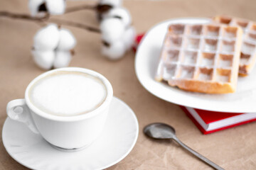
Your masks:
M100 29L98 29L98 28L87 26L85 24L77 23L74 21L66 21L66 20L61 20L61 19L57 19L57 18L50 18L49 14L46 14L43 17L32 17L28 14L23 14L23 13L11 13L8 11L0 11L0 17L1 16L7 17L7 18L34 21L34 22L55 22L55 23L58 23L59 25L73 26L76 28L82 28L84 30L89 30L89 31L92 31L95 33L100 33Z

